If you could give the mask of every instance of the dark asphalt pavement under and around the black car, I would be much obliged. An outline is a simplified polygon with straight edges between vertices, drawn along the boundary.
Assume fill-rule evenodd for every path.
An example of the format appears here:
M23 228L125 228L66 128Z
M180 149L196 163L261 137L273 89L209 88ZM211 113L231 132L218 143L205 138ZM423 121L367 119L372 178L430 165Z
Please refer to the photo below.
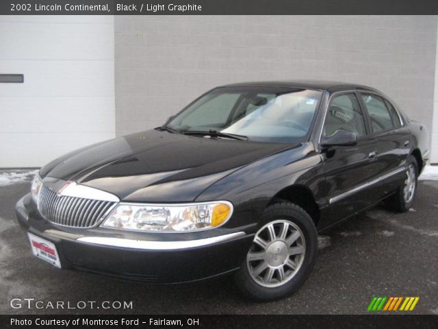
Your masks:
M422 181L413 209L377 207L320 236L315 269L295 295L256 304L237 295L230 276L150 286L59 270L31 255L14 204L29 180L0 186L2 314L361 314L374 296L419 296L415 314L438 314L438 182ZM132 309L14 309L12 298L44 302L132 301ZM398 312L400 313L400 312Z

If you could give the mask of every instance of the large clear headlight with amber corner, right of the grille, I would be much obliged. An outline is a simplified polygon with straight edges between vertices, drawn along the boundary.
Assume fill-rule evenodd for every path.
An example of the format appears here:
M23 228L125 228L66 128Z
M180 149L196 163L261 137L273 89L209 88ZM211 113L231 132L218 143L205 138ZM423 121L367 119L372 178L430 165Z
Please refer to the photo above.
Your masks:
M141 205L120 204L102 226L153 232L181 232L216 228L233 212L230 202L199 204Z

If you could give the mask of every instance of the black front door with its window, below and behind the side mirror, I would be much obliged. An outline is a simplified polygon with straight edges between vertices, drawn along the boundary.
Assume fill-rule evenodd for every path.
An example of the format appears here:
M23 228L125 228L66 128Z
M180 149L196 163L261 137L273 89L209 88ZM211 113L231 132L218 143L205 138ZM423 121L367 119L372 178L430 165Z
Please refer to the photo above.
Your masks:
M322 208L322 226L332 224L371 206L379 199L376 185L376 140L369 134L357 93L334 95L326 112L322 134L336 130L357 135L357 145L329 147L322 151L320 174L324 175L326 206Z

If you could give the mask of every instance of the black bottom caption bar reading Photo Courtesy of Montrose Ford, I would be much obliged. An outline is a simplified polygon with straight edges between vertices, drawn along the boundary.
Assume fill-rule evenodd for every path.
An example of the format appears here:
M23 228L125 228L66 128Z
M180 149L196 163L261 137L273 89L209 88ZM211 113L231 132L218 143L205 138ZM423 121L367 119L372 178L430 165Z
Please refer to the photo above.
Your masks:
M0 328L436 329L437 315L0 315Z

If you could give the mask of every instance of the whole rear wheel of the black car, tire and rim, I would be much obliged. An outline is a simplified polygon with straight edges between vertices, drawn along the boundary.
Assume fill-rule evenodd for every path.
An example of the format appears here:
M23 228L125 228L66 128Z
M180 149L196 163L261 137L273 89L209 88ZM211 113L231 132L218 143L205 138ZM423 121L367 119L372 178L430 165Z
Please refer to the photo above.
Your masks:
M404 180L394 195L387 200L391 210L407 212L413 204L417 192L418 166L413 156L407 159L407 167L404 173Z

